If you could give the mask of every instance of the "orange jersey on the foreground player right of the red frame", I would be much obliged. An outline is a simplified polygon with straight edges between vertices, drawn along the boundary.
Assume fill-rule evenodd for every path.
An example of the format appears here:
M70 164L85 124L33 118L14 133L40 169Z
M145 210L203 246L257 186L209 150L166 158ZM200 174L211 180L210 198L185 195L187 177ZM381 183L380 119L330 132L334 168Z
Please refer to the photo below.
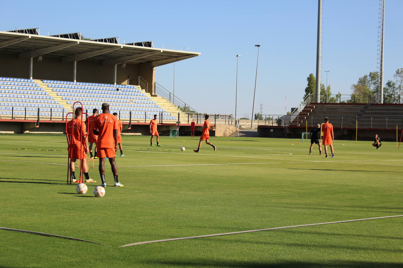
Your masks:
M94 120L93 129L98 129L98 148L114 148L113 130L118 129L118 119L112 114L99 114Z

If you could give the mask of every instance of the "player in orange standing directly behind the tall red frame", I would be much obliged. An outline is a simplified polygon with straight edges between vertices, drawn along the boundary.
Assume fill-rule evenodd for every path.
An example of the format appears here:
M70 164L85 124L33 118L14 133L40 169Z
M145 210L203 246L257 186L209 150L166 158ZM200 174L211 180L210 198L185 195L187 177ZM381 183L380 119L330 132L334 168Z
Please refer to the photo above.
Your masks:
M75 118L67 123L67 144L69 144L69 158L70 158L70 175L72 182L79 182L75 177L75 162L77 159L83 160L83 172L85 176L85 182L96 182L89 178L88 165L87 165L87 129L83 121L81 121L81 115L83 110L81 107L75 109ZM72 136L73 135L73 136ZM71 143L71 144L70 144ZM80 182L79 182L80 183Z

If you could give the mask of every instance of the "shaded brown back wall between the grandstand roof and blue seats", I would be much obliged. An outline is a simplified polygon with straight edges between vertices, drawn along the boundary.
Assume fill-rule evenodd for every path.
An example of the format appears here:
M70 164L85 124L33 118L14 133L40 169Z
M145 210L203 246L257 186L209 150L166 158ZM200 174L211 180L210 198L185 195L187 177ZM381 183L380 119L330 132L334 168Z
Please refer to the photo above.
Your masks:
M142 76L149 83L155 82L155 68L151 63L117 65L116 83L122 84L128 76ZM73 62L62 62L61 57L43 56L42 62L33 58L33 78L73 81ZM102 61L84 59L77 61L77 82L113 84L114 65L102 65ZM29 78L29 58L18 59L16 53L0 53L0 76Z

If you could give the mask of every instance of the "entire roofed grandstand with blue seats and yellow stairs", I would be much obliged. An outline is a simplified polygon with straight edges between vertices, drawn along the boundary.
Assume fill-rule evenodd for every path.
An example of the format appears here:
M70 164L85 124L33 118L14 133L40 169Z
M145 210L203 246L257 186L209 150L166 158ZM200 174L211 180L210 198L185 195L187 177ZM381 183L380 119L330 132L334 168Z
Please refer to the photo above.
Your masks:
M0 131L61 133L66 114L79 101L86 113L109 102L125 125L123 132L148 133L157 114L162 133L180 123L181 133L190 133L191 121L202 126L204 116L156 83L156 67L199 55L157 49L151 41L82 40L81 33L44 36L36 28L0 31ZM189 110L193 113L184 113ZM231 115L214 115L214 126L230 120L235 125Z

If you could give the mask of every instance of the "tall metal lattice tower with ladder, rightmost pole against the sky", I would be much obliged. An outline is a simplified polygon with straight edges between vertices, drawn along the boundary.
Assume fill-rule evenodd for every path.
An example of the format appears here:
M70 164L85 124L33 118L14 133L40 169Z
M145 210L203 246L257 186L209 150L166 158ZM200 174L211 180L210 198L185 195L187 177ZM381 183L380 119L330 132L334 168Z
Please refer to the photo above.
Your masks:
M385 17L385 0L379 0L378 13L378 43L376 57L376 71L379 74L378 94L379 103L383 103L383 55L384 55L384 17Z

